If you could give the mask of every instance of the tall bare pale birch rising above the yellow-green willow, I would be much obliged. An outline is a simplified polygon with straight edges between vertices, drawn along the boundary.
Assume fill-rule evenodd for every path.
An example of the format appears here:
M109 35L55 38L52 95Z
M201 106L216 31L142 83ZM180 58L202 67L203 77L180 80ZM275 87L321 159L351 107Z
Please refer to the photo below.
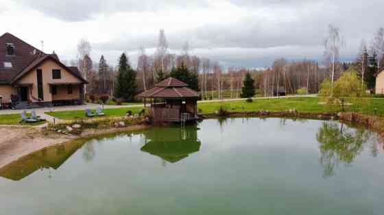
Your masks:
M344 47L344 38L340 35L340 29L333 25L328 25L328 36L324 40L325 52L324 55L331 59L332 75L331 82L335 79L335 64L339 58L340 49Z

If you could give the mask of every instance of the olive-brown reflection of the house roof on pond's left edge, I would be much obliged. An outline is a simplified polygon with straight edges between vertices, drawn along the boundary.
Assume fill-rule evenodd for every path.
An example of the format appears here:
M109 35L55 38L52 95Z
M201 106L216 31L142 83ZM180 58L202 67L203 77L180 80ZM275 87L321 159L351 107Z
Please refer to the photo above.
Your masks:
M82 142L70 142L47 147L4 166L0 169L0 176L20 181L36 170L47 168L49 169L48 177L51 177L50 169L57 170L80 147L82 147Z

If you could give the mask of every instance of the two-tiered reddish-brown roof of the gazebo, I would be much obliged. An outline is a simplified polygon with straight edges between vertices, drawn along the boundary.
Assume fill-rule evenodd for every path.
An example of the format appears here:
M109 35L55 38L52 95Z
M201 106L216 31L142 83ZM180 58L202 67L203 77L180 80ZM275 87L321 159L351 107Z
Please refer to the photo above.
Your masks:
M164 81L156 84L154 88L142 92L138 95L140 98L193 98L199 97L199 93L191 88L187 88L188 84L169 77Z

